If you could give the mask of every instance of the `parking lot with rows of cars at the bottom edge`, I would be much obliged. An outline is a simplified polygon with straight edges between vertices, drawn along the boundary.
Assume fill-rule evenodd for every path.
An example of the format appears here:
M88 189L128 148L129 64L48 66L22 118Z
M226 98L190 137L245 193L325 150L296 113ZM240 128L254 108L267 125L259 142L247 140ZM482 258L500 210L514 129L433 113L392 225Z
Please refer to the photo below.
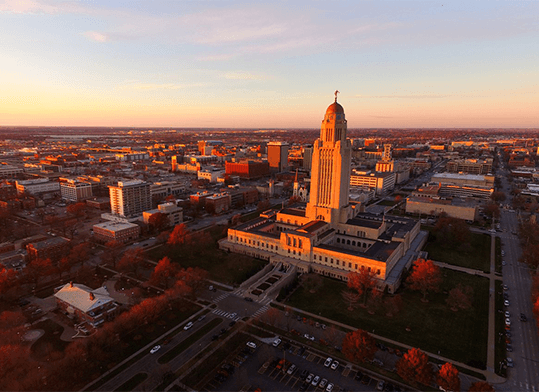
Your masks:
M256 349L238 348L221 365L215 377L205 386L206 391L373 391L378 379L359 372L348 364L338 364L333 370L324 366L327 357L309 351L303 346L283 341L273 347L258 340ZM292 366L294 365L294 366ZM232 368L233 369L232 369ZM226 375L226 376L225 376ZM309 375L311 375L309 377ZM318 376L318 382L313 384ZM322 380L325 380L322 382ZM321 383L323 386L321 386ZM399 391L386 385L386 391Z

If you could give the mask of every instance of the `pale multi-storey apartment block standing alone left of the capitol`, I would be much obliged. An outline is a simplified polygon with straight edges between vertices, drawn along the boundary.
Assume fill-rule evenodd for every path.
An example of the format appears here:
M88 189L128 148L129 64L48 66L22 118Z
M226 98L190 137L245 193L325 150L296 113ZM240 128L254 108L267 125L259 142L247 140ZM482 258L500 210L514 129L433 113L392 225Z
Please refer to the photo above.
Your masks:
M150 184L142 180L119 181L110 186L110 209L114 215L130 217L142 215L152 208Z

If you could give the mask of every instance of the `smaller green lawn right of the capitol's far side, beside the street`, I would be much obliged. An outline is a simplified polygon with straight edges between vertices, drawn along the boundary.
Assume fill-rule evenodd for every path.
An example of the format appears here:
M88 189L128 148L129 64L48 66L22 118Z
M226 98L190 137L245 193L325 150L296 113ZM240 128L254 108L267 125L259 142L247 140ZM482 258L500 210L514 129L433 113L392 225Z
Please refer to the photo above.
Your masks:
M443 263L473 268L479 271L490 272L490 235L471 233L471 244L467 250L446 248L437 242L429 242L425 251L429 259Z

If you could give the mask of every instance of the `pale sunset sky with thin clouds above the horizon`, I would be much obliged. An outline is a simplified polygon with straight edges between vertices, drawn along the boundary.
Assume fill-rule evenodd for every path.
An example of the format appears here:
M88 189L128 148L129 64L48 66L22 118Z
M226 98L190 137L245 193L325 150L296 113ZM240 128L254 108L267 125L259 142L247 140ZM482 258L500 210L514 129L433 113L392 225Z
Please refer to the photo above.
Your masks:
M539 1L0 0L0 126L539 128Z

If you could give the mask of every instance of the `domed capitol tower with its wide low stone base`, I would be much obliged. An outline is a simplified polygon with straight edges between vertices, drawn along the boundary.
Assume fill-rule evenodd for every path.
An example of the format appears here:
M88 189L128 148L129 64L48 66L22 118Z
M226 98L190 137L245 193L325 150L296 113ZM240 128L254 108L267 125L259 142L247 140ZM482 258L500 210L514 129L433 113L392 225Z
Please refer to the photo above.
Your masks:
M367 268L379 289L394 292L427 235L414 219L366 213L350 202L352 147L346 132L344 109L335 98L314 143L309 202L265 211L228 229L221 249L343 281Z

